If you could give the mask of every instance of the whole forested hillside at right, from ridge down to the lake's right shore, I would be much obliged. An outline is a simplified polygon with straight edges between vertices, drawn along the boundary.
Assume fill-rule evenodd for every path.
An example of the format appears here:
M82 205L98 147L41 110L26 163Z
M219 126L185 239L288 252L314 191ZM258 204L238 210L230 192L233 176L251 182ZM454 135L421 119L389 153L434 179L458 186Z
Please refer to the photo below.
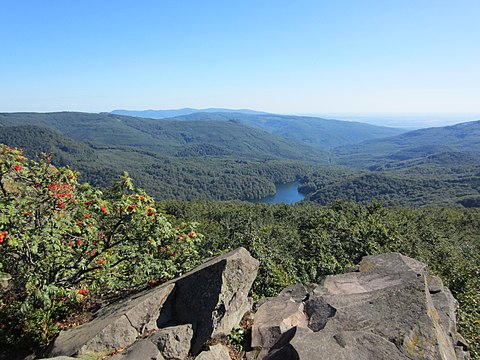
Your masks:
M309 200L480 207L480 121L411 131L335 153L337 163L350 170L309 176L302 184Z

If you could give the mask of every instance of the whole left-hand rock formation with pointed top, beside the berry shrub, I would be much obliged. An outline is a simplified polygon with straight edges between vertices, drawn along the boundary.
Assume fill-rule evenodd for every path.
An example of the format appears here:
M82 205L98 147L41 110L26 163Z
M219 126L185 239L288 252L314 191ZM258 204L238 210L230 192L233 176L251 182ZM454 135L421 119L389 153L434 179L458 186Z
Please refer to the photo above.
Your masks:
M196 355L210 338L226 336L250 310L247 295L258 266L243 248L216 257L174 281L102 309L84 325L62 331L46 356L107 354L129 347L121 358ZM165 353L158 355L155 348Z

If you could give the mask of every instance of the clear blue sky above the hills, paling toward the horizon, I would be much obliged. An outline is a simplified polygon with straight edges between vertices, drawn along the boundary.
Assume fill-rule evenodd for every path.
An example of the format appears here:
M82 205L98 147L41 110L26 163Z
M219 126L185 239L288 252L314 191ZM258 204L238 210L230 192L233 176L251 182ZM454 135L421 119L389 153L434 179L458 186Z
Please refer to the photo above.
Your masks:
M478 0L1 0L0 111L480 113Z

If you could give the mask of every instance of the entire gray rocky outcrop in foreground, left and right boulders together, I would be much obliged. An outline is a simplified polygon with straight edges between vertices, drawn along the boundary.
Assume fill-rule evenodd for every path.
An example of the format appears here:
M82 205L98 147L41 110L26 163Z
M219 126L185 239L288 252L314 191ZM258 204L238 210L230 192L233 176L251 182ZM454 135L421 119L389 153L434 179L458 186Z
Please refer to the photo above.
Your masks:
M227 360L225 337L248 313L246 359L469 359L457 302L425 264L398 253L368 256L318 286L292 285L261 300L252 315L247 294L258 265L242 248L214 258L62 332L47 355Z

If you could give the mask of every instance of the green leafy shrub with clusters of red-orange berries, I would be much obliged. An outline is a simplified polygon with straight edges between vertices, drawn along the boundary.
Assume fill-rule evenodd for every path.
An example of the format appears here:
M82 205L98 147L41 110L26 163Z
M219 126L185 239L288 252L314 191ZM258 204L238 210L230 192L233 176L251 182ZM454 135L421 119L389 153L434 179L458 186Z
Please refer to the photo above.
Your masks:
M195 224L175 224L128 174L108 191L77 177L0 146L0 275L11 278L0 298L4 348L46 344L92 294L152 285L199 261Z

